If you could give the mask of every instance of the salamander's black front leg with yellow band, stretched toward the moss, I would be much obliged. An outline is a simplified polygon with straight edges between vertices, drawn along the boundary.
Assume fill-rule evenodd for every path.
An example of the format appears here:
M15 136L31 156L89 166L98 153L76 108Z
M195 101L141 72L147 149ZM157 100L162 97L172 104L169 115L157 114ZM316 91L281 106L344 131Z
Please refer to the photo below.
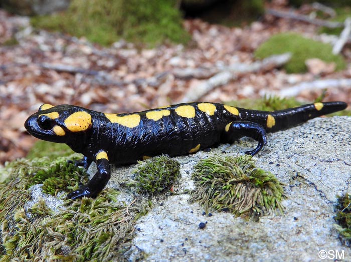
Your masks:
M96 155L97 172L93 178L78 190L73 191L67 195L67 198L77 199L83 196L95 197L107 185L111 177L110 164L108 162L107 154L102 151Z

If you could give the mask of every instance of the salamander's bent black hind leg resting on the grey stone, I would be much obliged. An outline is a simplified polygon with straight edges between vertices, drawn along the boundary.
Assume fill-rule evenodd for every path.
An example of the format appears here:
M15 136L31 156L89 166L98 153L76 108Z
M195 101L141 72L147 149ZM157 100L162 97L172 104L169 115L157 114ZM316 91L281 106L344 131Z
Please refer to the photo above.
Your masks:
M247 155L256 155L267 144L266 130L260 124L250 121L233 121L227 124L222 134L222 141L233 143L244 136L258 141L255 149L245 152Z

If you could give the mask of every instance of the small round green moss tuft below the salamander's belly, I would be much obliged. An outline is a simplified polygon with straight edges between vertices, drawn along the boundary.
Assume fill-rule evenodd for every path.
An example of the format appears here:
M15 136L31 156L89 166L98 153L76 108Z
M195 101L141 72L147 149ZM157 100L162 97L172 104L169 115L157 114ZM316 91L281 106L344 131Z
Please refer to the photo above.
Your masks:
M137 192L151 195L169 190L180 176L179 167L179 162L165 155L139 162L133 185Z

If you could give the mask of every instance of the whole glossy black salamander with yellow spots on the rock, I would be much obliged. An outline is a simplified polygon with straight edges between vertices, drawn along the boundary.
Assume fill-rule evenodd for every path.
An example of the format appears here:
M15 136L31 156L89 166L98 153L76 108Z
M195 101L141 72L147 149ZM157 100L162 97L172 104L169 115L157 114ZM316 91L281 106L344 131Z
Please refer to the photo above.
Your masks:
M68 198L96 196L110 179L110 163L127 164L148 157L195 153L241 137L258 141L255 155L266 145L266 132L284 130L308 119L343 110L344 102L308 104L265 112L217 103L184 103L129 114L107 114L79 106L44 104L25 122L27 131L40 139L66 143L84 158L75 165L97 172L88 184Z

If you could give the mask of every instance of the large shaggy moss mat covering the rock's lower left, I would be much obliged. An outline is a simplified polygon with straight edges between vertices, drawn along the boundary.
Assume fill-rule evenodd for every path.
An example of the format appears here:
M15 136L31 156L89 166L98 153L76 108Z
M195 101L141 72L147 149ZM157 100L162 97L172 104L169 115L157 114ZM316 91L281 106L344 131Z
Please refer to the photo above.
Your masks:
M0 261L125 259L122 254L131 246L136 218L147 213L149 201L137 198L126 206L116 200L118 191L105 189L95 199L66 199L65 208L56 212L45 198L25 209L32 183L45 182L57 171L70 172L71 167L65 158L22 159L5 166L2 172L8 178L0 184Z

